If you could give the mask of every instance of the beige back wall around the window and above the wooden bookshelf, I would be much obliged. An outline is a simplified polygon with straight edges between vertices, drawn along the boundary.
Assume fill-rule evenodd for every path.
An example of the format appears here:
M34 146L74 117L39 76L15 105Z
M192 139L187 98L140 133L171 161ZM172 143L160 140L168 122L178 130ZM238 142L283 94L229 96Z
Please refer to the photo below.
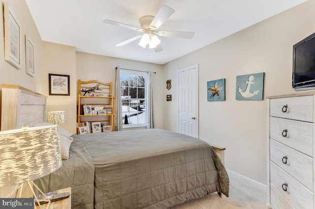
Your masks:
M161 129L163 127L163 103L166 96L163 95L166 81L162 80L163 72L162 66L158 64L151 64L147 62L138 62L128 59L120 59L115 57L101 56L90 53L76 52L76 66L77 66L77 80L100 80L103 82L113 82L115 87L116 70L120 68L139 70L139 71L153 71L153 85L154 85L154 126Z

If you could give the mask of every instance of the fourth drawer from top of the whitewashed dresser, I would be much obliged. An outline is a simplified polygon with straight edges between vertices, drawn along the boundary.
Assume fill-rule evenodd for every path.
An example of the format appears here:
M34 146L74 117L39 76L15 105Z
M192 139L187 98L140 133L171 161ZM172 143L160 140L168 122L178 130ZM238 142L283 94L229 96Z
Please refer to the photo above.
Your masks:
M313 209L313 193L270 161L270 183L297 209ZM285 186L287 184L287 186ZM286 189L286 191L284 191Z

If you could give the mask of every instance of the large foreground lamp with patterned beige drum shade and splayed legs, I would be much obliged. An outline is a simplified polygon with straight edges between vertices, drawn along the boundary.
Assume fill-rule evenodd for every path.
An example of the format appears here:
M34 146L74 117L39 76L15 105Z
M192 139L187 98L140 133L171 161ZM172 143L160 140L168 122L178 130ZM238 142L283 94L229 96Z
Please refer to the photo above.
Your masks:
M16 185L7 197L17 193L20 188L21 198L23 183L27 183L38 202L32 186L45 194L33 180L56 171L61 165L57 125L0 131L0 187ZM48 202L48 208L50 201L45 202Z

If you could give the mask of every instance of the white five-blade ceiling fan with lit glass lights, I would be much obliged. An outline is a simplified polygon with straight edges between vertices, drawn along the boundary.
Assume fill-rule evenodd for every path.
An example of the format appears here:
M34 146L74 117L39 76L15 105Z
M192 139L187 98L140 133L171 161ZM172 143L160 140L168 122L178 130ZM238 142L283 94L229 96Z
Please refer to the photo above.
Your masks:
M161 44L160 44L161 41L159 40L158 36L186 38L186 39L192 39L194 36L194 32L158 30L159 26L161 26L174 12L175 12L174 9L168 6L162 5L161 8L158 10L158 13L155 17L143 16L139 19L141 28L135 27L135 26L129 26L123 23L112 21L112 20L104 20L103 23L114 25L114 26L125 27L131 30L143 32L142 35L137 35L132 38L129 38L125 41L122 41L116 44L115 46L121 47L132 41L135 41L141 38L138 44L139 46L146 48L146 46L149 45L149 49L154 49L155 52L161 52L163 48L161 47Z

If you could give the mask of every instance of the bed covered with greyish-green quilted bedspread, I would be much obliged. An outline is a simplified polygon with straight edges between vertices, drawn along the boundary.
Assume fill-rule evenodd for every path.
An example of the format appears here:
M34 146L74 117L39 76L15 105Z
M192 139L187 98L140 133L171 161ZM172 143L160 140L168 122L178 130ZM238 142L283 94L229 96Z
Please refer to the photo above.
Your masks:
M71 208L163 209L213 192L228 197L220 158L197 138L159 129L69 135L68 159L34 183L44 192L71 187Z

